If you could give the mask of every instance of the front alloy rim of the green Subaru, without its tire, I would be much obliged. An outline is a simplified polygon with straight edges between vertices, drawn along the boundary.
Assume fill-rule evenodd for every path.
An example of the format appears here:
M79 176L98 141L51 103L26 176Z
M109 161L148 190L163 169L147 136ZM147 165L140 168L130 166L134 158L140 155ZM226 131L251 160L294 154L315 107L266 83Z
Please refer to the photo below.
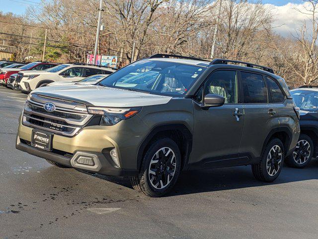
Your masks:
M148 176L151 185L163 189L169 185L176 170L176 158L169 147L160 148L152 157Z

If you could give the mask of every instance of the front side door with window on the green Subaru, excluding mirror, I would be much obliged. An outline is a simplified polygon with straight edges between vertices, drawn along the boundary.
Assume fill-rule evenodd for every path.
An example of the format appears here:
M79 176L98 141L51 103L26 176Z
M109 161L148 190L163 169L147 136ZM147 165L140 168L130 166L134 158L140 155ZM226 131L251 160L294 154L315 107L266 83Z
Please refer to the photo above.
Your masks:
M194 133L191 162L198 167L224 167L240 164L239 144L244 110L239 104L238 74L235 70L213 72L194 101ZM225 105L204 110L204 96L225 97Z

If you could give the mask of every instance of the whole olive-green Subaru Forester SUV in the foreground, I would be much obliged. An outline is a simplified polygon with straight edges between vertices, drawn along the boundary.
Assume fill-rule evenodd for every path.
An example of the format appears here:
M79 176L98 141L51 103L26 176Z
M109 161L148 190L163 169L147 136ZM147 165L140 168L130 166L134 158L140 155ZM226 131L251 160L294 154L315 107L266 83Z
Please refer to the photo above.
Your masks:
M167 193L181 170L251 165L272 182L300 134L299 109L272 69L162 54L97 85L38 88L19 122L17 149L129 176L151 197Z

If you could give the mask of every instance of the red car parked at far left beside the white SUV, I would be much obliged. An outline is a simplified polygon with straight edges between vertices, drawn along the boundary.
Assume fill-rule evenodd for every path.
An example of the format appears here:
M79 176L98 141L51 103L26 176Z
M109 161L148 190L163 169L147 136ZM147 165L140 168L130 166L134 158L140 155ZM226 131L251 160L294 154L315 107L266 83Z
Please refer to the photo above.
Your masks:
M45 69L48 69L57 65L59 65L59 63L36 61L36 62L29 63L25 66L21 66L19 68L8 68L0 72L0 83L2 85L6 85L6 82L9 79L9 77L13 74L18 73L19 71L29 71L29 70L43 71Z

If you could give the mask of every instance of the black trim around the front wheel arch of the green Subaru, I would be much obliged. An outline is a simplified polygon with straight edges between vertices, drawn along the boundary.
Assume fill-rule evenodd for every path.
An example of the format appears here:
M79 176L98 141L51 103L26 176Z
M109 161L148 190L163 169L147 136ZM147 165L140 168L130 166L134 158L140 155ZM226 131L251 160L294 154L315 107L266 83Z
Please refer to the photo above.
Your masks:
M186 148L186 153L185 153L185 160L183 161L183 163L181 165L181 170L182 169L187 169L186 165L188 165L190 153L191 153L191 150L192 150L192 133L189 130L189 128L183 123L168 123L168 124L156 125L154 128L152 128L150 130L150 132L147 134L147 136L144 138L142 143L139 145L138 152L137 152L137 160L136 160L136 168L138 170L140 170L140 167L142 165L143 153L145 152L145 149L146 149L148 143L159 132L169 131L169 130L178 130L178 131L180 131L183 134L183 136L185 137L185 139L187 140L187 142L188 142L188 145L187 145L187 148Z

